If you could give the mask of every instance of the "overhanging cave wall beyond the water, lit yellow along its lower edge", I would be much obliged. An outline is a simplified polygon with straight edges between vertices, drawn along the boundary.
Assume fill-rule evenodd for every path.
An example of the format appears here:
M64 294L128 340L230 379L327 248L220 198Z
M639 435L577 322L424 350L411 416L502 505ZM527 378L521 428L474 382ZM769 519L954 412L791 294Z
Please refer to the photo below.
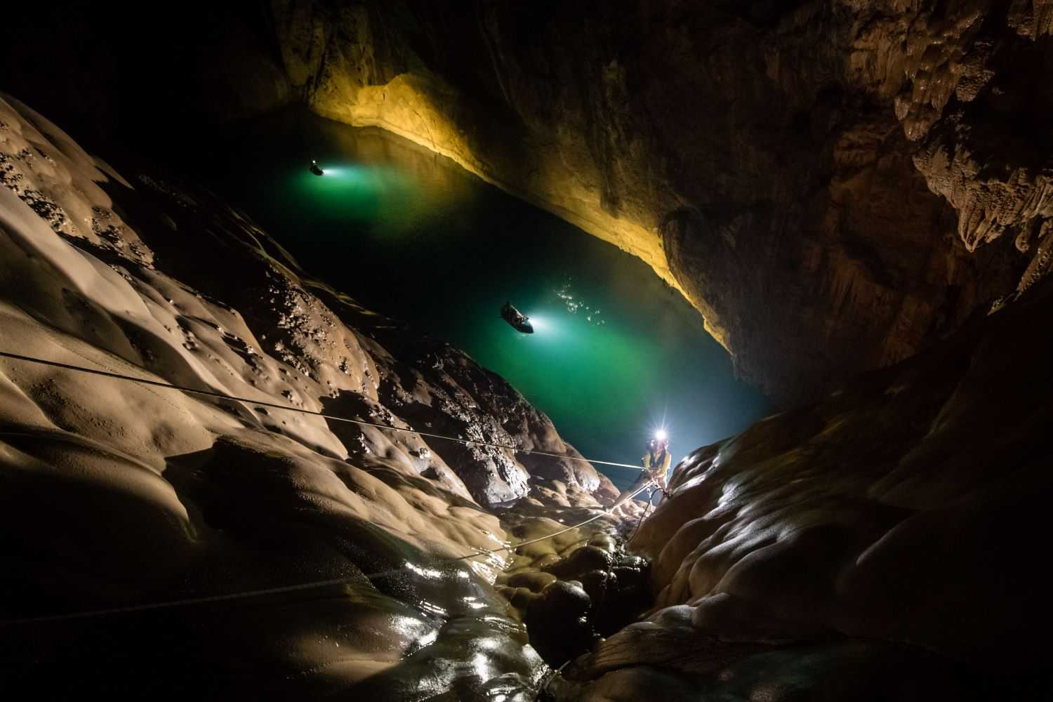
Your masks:
M391 129L639 256L779 400L906 358L1050 265L1046 0L44 15L51 52L5 26L7 89L68 123L303 100Z

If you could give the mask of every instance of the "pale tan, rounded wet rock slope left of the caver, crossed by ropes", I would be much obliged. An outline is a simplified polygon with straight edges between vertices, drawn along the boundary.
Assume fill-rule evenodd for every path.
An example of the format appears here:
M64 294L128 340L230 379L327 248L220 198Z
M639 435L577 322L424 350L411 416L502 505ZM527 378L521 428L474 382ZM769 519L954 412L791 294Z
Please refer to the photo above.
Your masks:
M0 687L533 699L548 667L494 587L512 557L461 557L597 514L610 481L207 193L118 155L122 178L6 97L0 155L0 348L245 398L0 360Z

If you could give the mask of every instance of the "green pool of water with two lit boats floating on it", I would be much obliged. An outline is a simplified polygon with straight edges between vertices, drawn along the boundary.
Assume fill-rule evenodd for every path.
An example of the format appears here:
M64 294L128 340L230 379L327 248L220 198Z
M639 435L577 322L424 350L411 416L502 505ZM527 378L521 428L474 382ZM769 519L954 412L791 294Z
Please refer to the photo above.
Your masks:
M195 175L305 269L465 349L585 456L637 463L664 426L678 459L770 407L650 267L443 157L300 112L241 124L208 153ZM535 334L499 317L505 300ZM622 486L638 475L604 472Z

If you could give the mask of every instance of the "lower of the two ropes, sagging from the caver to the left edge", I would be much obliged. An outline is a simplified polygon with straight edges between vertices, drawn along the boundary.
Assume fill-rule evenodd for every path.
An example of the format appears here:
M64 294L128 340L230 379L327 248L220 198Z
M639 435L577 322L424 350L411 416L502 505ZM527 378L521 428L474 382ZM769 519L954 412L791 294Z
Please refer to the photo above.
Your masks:
M522 546L529 546L530 544L538 543L539 541L544 541L547 539L552 539L553 537L557 537L557 536L559 536L561 534L567 534L568 531L571 531L571 530L576 529L578 527L584 526L585 524L594 522L594 521L596 521L597 519L599 519L601 517L607 517L608 515L610 515L611 513L613 513L615 509L617 509L618 507L620 507L621 505L623 505L625 502L628 502L629 500L631 500L634 497L636 497L637 495L639 495L641 492L643 492L644 488L650 487L653 482L654 481L648 481L647 483L644 483L643 485L641 485L638 489L636 489L633 493L630 493L625 497L621 498L620 500L618 500L617 502L615 502L614 504L612 504L610 507L604 508L598 515L594 515L594 516L590 517L589 519L584 520L583 522L579 522L579 523L577 523L577 524L575 524L573 526L568 526L564 529L560 529L558 531L554 531L553 534L549 534L549 535L543 536L543 537L538 537L536 539L530 539L528 541L522 541L522 542L517 543L517 544L509 544L506 546L501 546L500 548L488 548L488 549L478 550L478 551L476 551L474 554L465 554L463 556L454 556L454 557L442 558L442 559L439 559L439 562L440 563L456 563L457 561L466 561L466 560L469 560L471 558L477 558L479 556L492 556L494 554L499 554L499 553L501 553L503 550L515 550L515 549L520 548ZM281 587L267 587L265 589L242 590L242 591L238 591L238 593L227 593L225 595L210 595L210 596L205 596L205 597L184 598L184 599L181 599L181 600L167 600L165 602L150 602L150 603L146 603L146 604L135 604L135 605L131 605L131 606L126 606L126 607L112 607L110 609L93 609L93 610L88 610L88 611L75 611L75 613L65 614L65 615L49 615L49 616L44 616L44 617L24 617L24 618L21 618L21 619L6 619L6 620L0 620L0 626L14 626L14 625L17 625L17 624L42 624L42 623L45 623L45 622L58 622L58 621L66 621L66 620L71 620L71 619L91 619L91 618L95 618L95 617L106 617L106 616L111 616L111 615L123 615L123 614L136 613L136 611L147 611L147 610L153 610L153 609L170 609L170 608L173 608L173 607L184 607L184 606L190 606L190 605L195 605L195 604L208 604L208 603L212 603L212 602L227 602L227 601L231 601L231 600L243 600L243 599L247 599L247 598L251 598L251 597L263 597L263 596L266 596L266 595L281 595L283 593L295 593L295 591L305 590L305 589L316 589L316 588L319 588L319 587L330 587L330 586L333 586L333 585L344 585L344 584L347 584L347 583L353 582L355 580L358 580L359 577L364 577L366 580L376 580L378 578L385 578L388 576L393 576L393 575L395 575L397 573L400 573L403 567L404 566L399 566L397 568L389 568L388 570L380 570L379 573L372 573L370 575L363 575L363 576L349 576L346 578L332 578L330 580L315 580L315 581L312 581L312 582L300 583L300 584L297 584L297 585L283 585Z

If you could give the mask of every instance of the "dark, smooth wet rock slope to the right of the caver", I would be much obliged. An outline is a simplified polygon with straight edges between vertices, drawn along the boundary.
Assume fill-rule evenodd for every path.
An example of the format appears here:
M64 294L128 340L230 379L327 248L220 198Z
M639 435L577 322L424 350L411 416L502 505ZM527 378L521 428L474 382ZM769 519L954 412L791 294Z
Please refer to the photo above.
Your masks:
M556 699L1047 699L1053 285L697 449L630 543L645 620Z

